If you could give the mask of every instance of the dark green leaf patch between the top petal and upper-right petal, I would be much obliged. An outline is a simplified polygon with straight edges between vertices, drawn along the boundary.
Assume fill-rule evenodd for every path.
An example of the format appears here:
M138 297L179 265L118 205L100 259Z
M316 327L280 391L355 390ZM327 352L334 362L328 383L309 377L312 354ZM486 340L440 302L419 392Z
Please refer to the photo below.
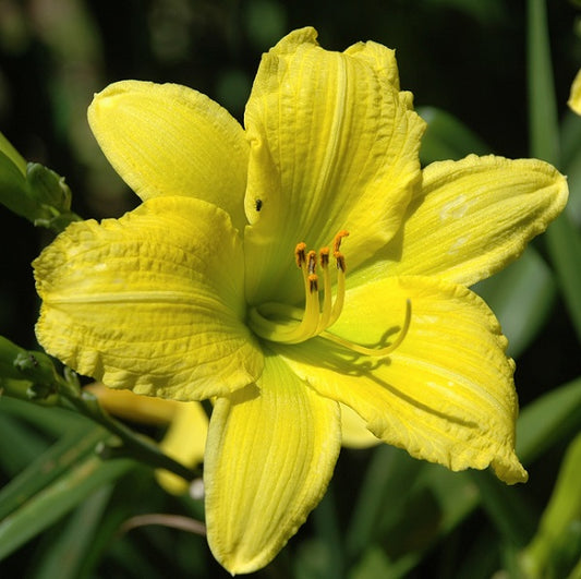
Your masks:
M491 153L486 143L449 112L435 107L420 107L417 112L427 122L420 150L423 165L437 160L458 160L471 153Z

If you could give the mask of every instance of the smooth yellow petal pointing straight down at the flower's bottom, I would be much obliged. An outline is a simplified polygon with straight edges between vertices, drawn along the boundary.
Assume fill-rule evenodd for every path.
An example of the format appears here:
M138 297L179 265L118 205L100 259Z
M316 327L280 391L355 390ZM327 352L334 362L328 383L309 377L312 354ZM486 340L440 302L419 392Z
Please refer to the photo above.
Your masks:
M214 556L233 574L264 567L320 500L340 448L338 405L276 357L258 387L219 398L204 465Z

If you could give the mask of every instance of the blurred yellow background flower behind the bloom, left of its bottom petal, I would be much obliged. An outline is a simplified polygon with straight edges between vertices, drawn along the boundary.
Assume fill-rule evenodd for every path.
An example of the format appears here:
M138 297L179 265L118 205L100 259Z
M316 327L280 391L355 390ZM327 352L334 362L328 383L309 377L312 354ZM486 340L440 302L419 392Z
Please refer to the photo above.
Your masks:
M208 418L199 402L178 402L153 396L140 396L131 390L116 390L104 384L85 386L110 414L143 424L168 426L159 443L162 453L191 469L204 460ZM156 471L159 484L174 495L189 491L189 482L167 470Z

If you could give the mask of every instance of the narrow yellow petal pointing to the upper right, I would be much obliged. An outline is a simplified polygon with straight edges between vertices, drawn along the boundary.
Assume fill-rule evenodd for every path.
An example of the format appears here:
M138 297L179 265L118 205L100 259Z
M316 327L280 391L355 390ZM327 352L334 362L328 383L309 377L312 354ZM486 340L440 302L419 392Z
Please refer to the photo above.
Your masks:
M517 258L567 203L567 181L536 159L470 155L424 170L402 236L351 282L377 275L437 275L470 286Z

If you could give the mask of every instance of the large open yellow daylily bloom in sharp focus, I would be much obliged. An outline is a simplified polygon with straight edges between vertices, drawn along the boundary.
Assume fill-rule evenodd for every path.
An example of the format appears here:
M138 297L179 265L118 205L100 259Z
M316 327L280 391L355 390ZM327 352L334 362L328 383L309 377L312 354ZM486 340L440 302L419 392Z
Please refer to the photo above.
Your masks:
M344 408L352 445L366 429L526 480L515 364L467 286L562 209L553 167L470 156L422 171L394 51L326 51L313 28L263 57L244 128L195 91L136 81L88 118L143 204L43 252L37 336L109 386L216 398L206 522L229 571L266 565L318 503Z

